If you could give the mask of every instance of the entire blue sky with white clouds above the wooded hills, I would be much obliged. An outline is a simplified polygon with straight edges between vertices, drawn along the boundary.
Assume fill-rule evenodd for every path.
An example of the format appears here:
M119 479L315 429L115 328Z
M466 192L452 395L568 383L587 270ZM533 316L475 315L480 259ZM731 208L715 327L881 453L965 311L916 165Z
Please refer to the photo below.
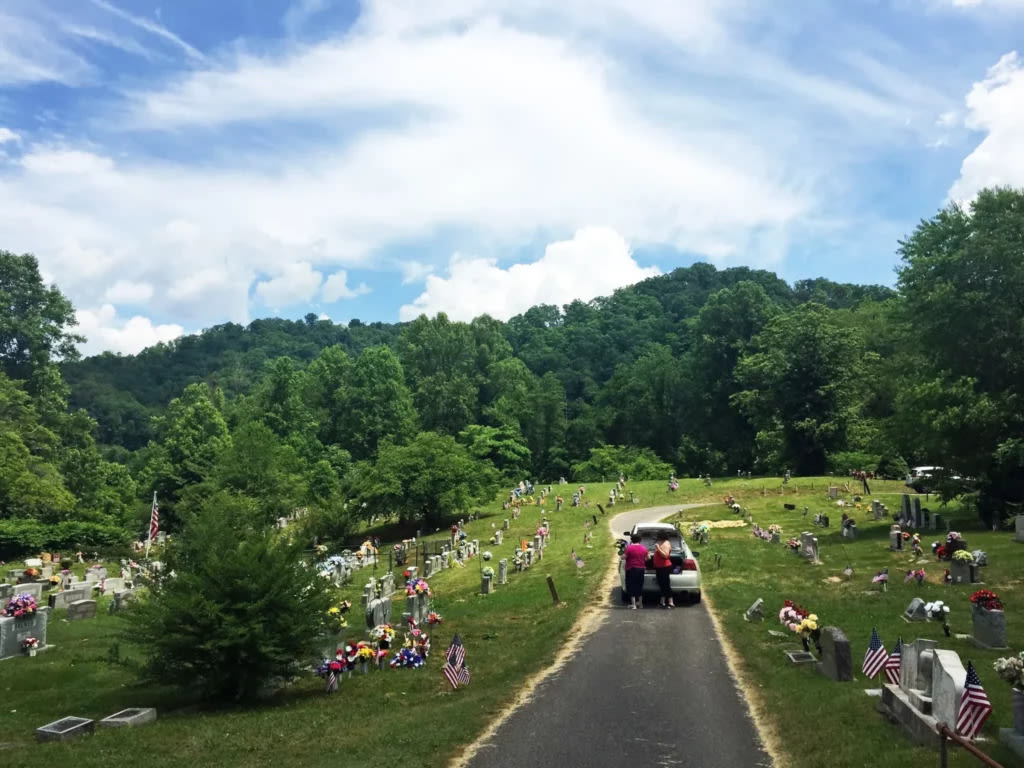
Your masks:
M1024 185L1021 45L1024 0L0 0L0 248L87 352L696 260L892 285Z

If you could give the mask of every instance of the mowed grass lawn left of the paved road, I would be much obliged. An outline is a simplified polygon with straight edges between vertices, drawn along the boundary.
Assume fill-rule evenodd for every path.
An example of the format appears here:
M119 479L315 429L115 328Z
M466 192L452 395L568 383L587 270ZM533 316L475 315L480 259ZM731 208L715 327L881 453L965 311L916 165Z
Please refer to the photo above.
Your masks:
M570 495L569 495L570 497ZM567 497L568 498L568 497ZM512 571L511 556L521 539L532 540L541 509L524 508L511 522L500 547L486 545L494 527L509 513L500 504L466 524L470 539L510 560L510 584L488 596L479 594L480 562L443 570L430 580L434 607L443 624L429 629L431 655L420 670L385 670L344 680L327 695L324 682L310 675L255 707L214 710L180 693L136 682L138 651L116 647L120 620L101 603L92 621L67 623L62 611L49 625L56 647L35 658L0 663L0 765L5 768L58 762L78 768L143 763L158 766L332 766L388 764L442 766L482 732L517 694L523 681L551 664L587 603L603 599L596 589L613 553L605 518L597 507L554 512L548 506L552 537L544 559L528 571ZM596 514L593 548L583 545L584 521ZM569 557L585 559L578 568ZM340 591L353 602L349 638L365 637L359 603L362 575ZM380 570L377 571L378 575ZM403 584L395 569L396 584ZM564 605L554 606L546 577L554 578ZM404 593L396 596L392 620L400 624ZM441 676L444 650L455 633L466 646L472 683L453 691ZM112 664L111 658L121 663ZM121 709L157 707L157 722L134 729L99 729L95 735L63 743L38 744L34 730L75 715L97 721Z

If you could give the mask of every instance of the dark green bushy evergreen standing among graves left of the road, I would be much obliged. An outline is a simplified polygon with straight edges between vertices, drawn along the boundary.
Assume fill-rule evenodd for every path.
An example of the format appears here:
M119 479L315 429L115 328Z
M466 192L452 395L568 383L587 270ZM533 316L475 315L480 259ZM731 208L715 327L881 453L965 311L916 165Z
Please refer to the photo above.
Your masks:
M220 700L252 699L317 651L330 596L302 545L251 501L217 494L163 556L165 572L125 615L146 677ZM173 575L170 573L173 572Z

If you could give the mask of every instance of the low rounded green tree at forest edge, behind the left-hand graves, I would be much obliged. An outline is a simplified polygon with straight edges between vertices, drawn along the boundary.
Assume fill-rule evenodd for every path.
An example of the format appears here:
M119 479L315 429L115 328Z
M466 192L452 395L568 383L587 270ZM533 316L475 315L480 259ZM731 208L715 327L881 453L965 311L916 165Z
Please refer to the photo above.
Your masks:
M473 461L451 435L420 432L408 445L384 443L376 464L358 473L354 496L366 515L394 514L430 529L486 501L495 480L490 463Z

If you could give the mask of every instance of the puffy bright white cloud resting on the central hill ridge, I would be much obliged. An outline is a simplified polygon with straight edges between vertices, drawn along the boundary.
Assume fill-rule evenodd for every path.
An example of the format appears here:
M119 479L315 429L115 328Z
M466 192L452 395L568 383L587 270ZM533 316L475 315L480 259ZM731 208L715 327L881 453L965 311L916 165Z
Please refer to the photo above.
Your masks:
M537 261L507 268L498 266L496 259L457 254L449 275L427 278L424 292L401 307L399 317L446 312L461 321L480 314L508 319L535 304L590 301L658 273L656 267L640 266L614 230L588 227L572 240L550 244Z

